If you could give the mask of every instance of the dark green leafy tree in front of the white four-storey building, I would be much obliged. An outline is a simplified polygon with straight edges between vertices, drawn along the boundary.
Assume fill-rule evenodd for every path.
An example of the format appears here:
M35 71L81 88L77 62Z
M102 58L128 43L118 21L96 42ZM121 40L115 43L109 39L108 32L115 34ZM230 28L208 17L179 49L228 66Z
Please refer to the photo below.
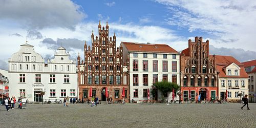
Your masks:
M153 84L152 86L152 90L159 90L163 93L163 95L167 95L168 92L172 92L173 89L175 91L179 90L179 85L177 83L174 82L168 82L168 81L161 81L161 82L156 82L155 84ZM152 91L152 93L155 93ZM153 94L154 95L154 94Z

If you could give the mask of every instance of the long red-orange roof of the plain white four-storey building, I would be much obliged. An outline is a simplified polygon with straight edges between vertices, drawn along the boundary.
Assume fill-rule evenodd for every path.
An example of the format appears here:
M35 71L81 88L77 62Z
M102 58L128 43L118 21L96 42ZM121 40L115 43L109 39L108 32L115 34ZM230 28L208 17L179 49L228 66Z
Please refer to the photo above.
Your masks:
M129 52L160 52L160 53L179 53L172 47L165 44L143 44L138 42L121 42Z

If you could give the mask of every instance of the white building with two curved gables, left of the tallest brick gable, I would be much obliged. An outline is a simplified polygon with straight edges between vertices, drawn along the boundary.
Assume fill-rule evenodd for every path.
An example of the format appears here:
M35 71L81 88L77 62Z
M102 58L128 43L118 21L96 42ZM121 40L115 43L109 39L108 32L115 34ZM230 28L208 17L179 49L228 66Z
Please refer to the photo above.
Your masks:
M9 58L9 96L25 97L29 101L76 97L76 61L69 59L63 47L58 48L54 59L45 63L29 44L20 45L20 50Z

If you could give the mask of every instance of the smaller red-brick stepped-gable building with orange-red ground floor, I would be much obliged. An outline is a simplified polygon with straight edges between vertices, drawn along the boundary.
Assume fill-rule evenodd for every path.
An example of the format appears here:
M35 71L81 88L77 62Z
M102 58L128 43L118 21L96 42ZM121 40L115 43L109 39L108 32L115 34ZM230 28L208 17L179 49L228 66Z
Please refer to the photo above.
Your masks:
M187 101L189 90L191 100L206 100L208 94L210 98L216 98L217 70L216 56L209 55L209 40L203 42L202 37L195 37L195 42L188 40L188 48L181 52L181 92L183 101Z

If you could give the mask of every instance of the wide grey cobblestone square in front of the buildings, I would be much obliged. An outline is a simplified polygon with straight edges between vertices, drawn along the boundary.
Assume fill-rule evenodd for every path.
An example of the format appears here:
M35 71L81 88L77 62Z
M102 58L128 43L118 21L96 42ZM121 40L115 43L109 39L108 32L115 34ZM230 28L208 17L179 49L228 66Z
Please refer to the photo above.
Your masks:
M256 103L242 104L28 104L7 112L0 127L256 127Z

